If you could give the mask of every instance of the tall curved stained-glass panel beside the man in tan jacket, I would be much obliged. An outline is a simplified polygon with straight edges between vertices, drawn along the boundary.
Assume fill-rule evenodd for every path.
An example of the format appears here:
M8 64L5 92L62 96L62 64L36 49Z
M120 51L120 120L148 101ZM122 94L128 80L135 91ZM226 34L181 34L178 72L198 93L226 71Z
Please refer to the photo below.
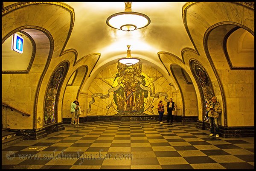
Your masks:
M195 60L191 60L189 64L190 64L190 69L192 70L192 74L195 77L195 80L198 84L202 102L204 103L202 105L204 107L203 120L207 121L206 119L207 105L212 102L212 97L215 96L213 87L212 87L212 82L206 70L199 62Z

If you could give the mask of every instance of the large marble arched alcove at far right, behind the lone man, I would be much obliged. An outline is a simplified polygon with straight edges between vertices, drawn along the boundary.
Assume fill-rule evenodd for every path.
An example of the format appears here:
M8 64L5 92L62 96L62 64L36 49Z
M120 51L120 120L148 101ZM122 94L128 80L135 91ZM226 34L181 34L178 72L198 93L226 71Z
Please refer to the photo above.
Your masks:
M221 92L215 93L221 95L218 101L223 105L224 126L254 126L253 38L252 30L234 22L218 23L205 33L207 58L221 78ZM244 61L238 64L240 60Z

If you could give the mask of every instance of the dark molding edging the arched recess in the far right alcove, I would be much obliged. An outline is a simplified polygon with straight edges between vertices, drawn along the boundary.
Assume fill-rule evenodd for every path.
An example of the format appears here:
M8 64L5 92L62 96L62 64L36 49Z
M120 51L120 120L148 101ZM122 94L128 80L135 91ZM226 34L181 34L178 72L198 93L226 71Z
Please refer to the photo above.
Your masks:
M241 28L240 26L237 26L233 29L231 29L227 34L226 36L224 37L224 40L223 40L223 50L224 50L224 54L225 54L225 57L227 59L227 63L230 67L230 70L254 70L254 67L234 67L231 60L230 60L230 56L227 52L227 39L229 38L229 36L235 32L236 30L238 30L239 28ZM249 28L246 29L247 31L250 30ZM250 30L250 33L253 33L253 36L254 36L254 32Z

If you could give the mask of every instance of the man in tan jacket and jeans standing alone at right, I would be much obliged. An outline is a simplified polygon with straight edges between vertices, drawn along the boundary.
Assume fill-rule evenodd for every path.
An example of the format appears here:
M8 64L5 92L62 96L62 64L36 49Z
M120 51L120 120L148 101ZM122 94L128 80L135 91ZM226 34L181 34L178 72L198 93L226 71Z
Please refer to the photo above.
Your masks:
M213 127L213 120L215 122L216 126L216 137L219 137L220 129L218 125L218 116L221 114L221 104L217 101L217 97L212 97L212 103L209 104L207 107L209 122L210 122L210 130L211 134L209 136L212 136L214 134L214 127Z

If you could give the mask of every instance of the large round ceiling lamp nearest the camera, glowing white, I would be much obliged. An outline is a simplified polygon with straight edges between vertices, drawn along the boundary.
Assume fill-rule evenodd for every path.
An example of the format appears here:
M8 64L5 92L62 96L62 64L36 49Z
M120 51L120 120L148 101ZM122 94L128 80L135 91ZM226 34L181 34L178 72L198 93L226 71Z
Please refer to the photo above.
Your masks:
M125 11L108 17L107 25L123 31L134 31L150 24L150 19L145 14L131 11L131 3L125 2Z

